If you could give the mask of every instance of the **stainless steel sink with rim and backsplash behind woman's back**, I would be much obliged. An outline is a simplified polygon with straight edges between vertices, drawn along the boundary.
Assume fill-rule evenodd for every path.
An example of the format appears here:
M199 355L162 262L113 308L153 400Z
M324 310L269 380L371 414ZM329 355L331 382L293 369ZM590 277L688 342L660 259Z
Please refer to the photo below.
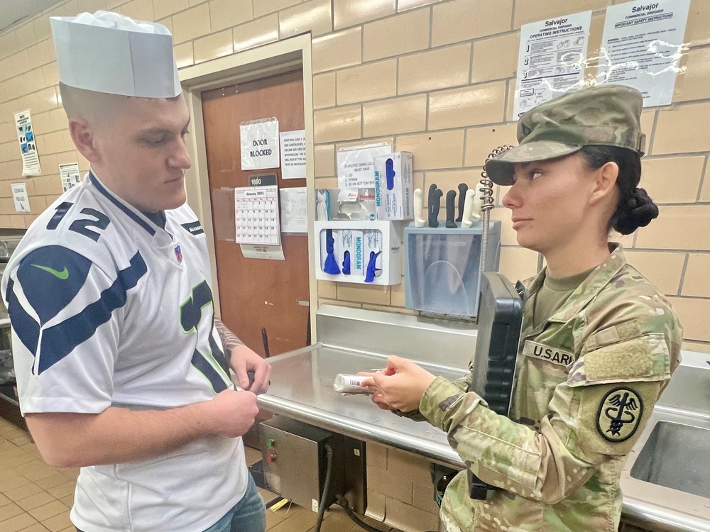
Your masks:
M621 472L622 512L645 530L710 532L710 355L682 358Z

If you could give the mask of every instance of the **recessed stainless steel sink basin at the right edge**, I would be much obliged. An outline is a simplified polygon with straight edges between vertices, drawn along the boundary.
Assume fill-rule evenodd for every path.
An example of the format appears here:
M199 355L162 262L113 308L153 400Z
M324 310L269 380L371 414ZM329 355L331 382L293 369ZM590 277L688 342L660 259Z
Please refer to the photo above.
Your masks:
M710 498L710 429L659 421L630 475L638 480Z

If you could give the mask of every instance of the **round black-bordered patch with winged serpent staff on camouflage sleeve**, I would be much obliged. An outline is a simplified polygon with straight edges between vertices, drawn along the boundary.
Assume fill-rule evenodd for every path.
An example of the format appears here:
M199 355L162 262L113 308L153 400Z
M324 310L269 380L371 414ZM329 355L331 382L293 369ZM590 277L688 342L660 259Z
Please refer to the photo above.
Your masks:
M596 430L607 441L626 441L636 432L642 416L641 395L630 387L614 388L599 403Z

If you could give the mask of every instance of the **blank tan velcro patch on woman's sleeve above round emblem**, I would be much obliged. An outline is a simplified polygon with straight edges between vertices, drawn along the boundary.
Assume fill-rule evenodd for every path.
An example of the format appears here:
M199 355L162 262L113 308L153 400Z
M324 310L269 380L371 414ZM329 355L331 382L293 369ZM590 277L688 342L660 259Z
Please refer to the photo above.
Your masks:
M586 353L584 372L590 381L650 377L653 357L648 340L635 338Z

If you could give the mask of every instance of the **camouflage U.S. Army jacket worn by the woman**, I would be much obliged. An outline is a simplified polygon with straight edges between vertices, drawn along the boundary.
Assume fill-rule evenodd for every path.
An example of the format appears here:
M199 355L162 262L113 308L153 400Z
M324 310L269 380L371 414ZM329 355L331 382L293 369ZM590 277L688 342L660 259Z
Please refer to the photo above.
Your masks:
M466 466L501 488L471 499L460 472L442 502L447 532L618 528L621 470L680 362L682 328L621 246L532 328L544 279L543 271L525 282L510 419L464 392L470 377L437 377L420 402Z

